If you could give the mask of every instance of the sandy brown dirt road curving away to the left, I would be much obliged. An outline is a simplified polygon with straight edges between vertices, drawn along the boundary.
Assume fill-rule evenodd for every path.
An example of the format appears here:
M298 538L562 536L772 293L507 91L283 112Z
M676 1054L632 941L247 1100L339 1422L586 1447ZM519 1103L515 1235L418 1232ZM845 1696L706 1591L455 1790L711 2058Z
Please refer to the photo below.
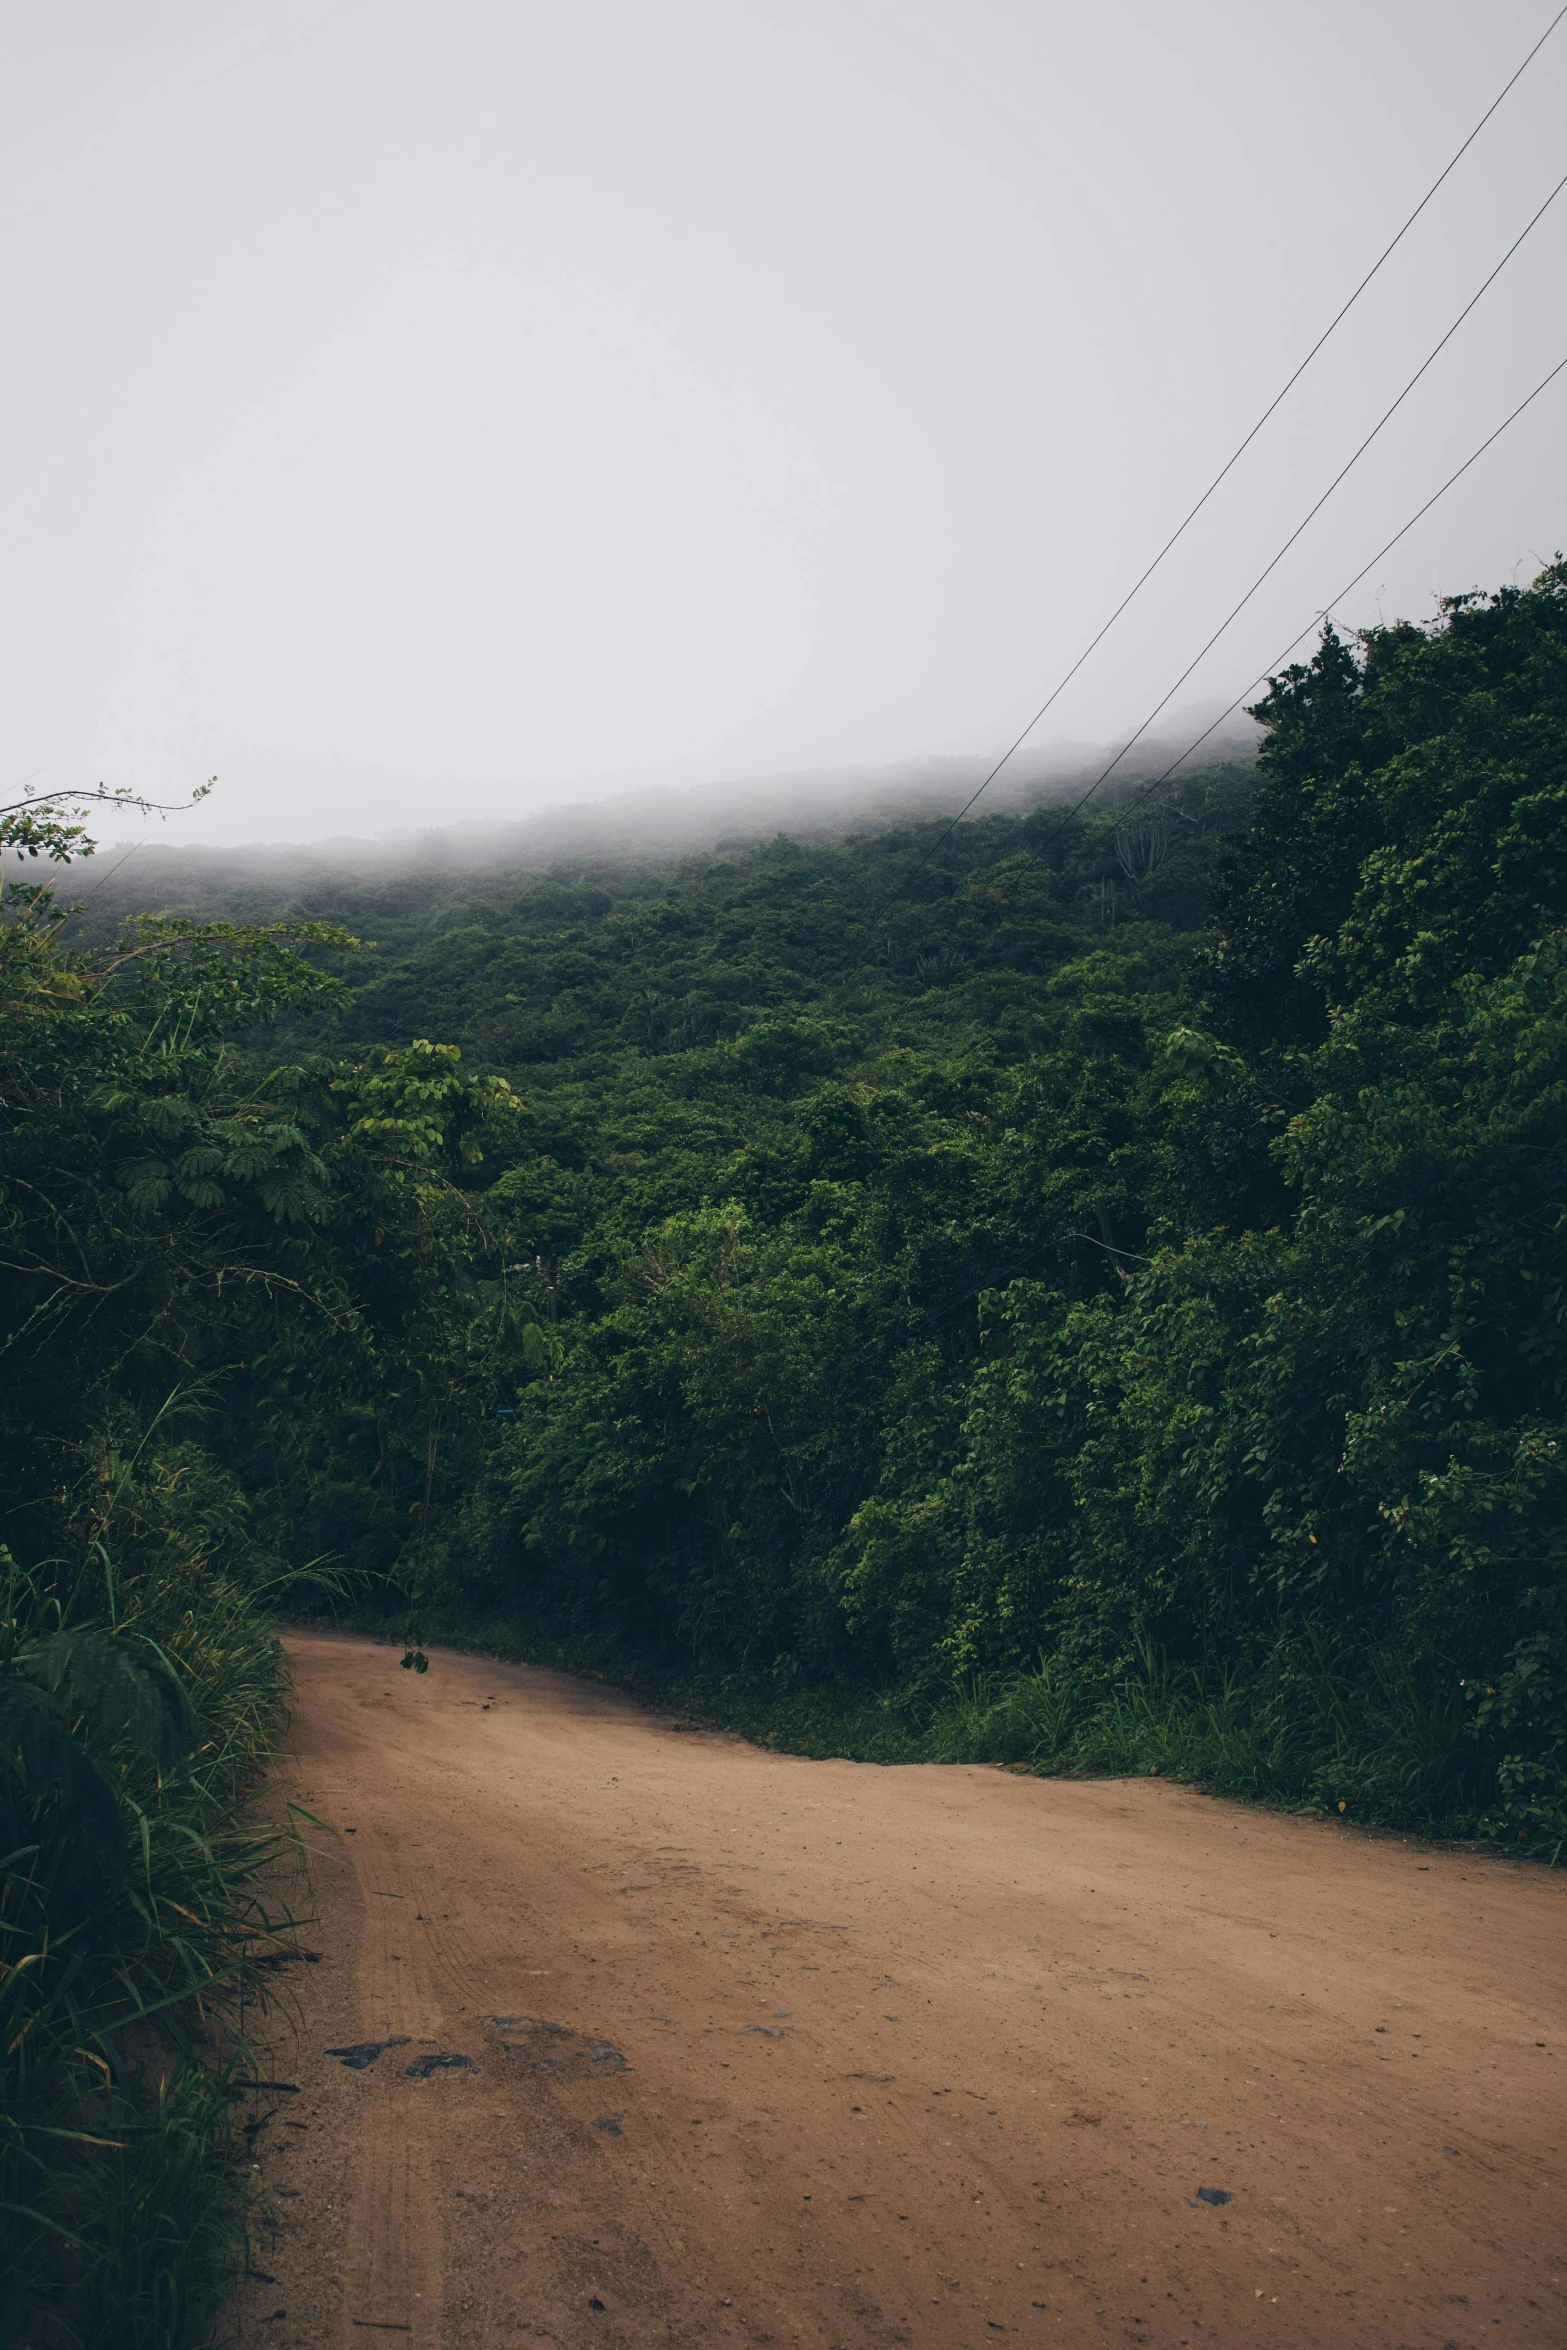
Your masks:
M247 2345L1567 2343L1560 1878L289 1645Z

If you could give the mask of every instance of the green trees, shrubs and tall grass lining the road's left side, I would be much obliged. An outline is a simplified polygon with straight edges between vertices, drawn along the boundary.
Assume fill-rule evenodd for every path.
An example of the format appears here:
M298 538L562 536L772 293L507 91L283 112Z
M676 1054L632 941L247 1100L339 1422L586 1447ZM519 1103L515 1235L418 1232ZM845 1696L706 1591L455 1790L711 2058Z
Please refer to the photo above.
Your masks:
M453 1175L510 1109L430 1046L235 1050L334 945L146 921L85 956L35 886L0 919L0 2341L197 2341L244 2242L230 2110L277 1958L244 1805L268 1593L308 1565L275 1495L327 1394L423 1457Z

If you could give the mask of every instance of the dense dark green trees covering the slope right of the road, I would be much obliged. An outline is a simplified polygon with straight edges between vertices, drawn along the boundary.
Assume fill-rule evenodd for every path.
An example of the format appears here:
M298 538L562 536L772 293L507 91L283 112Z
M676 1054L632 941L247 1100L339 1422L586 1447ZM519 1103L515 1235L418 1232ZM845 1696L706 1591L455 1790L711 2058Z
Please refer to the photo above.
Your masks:
M526 1097L463 1316L510 1417L430 1579L970 1751L1165 1767L1125 1708L1212 1718L1177 1746L1229 1784L1555 1845L1565 630L1548 573L1330 634L1255 785L1156 818L383 949L338 1041Z

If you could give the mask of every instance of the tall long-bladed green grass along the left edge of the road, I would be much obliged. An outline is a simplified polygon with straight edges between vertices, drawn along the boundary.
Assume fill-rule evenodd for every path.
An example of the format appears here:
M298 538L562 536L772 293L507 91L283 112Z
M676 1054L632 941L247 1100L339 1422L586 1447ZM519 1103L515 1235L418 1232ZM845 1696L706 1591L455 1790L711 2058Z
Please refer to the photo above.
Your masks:
M282 1652L200 1556L0 1570L0 2343L188 2350L247 2265Z

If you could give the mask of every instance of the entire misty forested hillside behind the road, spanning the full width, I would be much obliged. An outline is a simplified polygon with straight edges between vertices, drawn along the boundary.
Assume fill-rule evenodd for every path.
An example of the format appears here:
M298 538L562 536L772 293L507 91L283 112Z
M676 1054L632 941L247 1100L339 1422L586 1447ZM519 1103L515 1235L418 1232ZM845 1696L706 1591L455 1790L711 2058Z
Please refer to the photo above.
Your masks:
M1567 569L1327 632L1259 714L1255 776L951 839L115 945L75 874L7 884L38 2127L87 2044L120 2120L148 2094L127 1941L141 2007L204 1995L143 1826L235 1939L181 1821L233 1817L308 1574L813 1751L1560 1852ZM108 2291L110 2157L40 2143L7 2197L94 2249L28 2237L28 2291Z

